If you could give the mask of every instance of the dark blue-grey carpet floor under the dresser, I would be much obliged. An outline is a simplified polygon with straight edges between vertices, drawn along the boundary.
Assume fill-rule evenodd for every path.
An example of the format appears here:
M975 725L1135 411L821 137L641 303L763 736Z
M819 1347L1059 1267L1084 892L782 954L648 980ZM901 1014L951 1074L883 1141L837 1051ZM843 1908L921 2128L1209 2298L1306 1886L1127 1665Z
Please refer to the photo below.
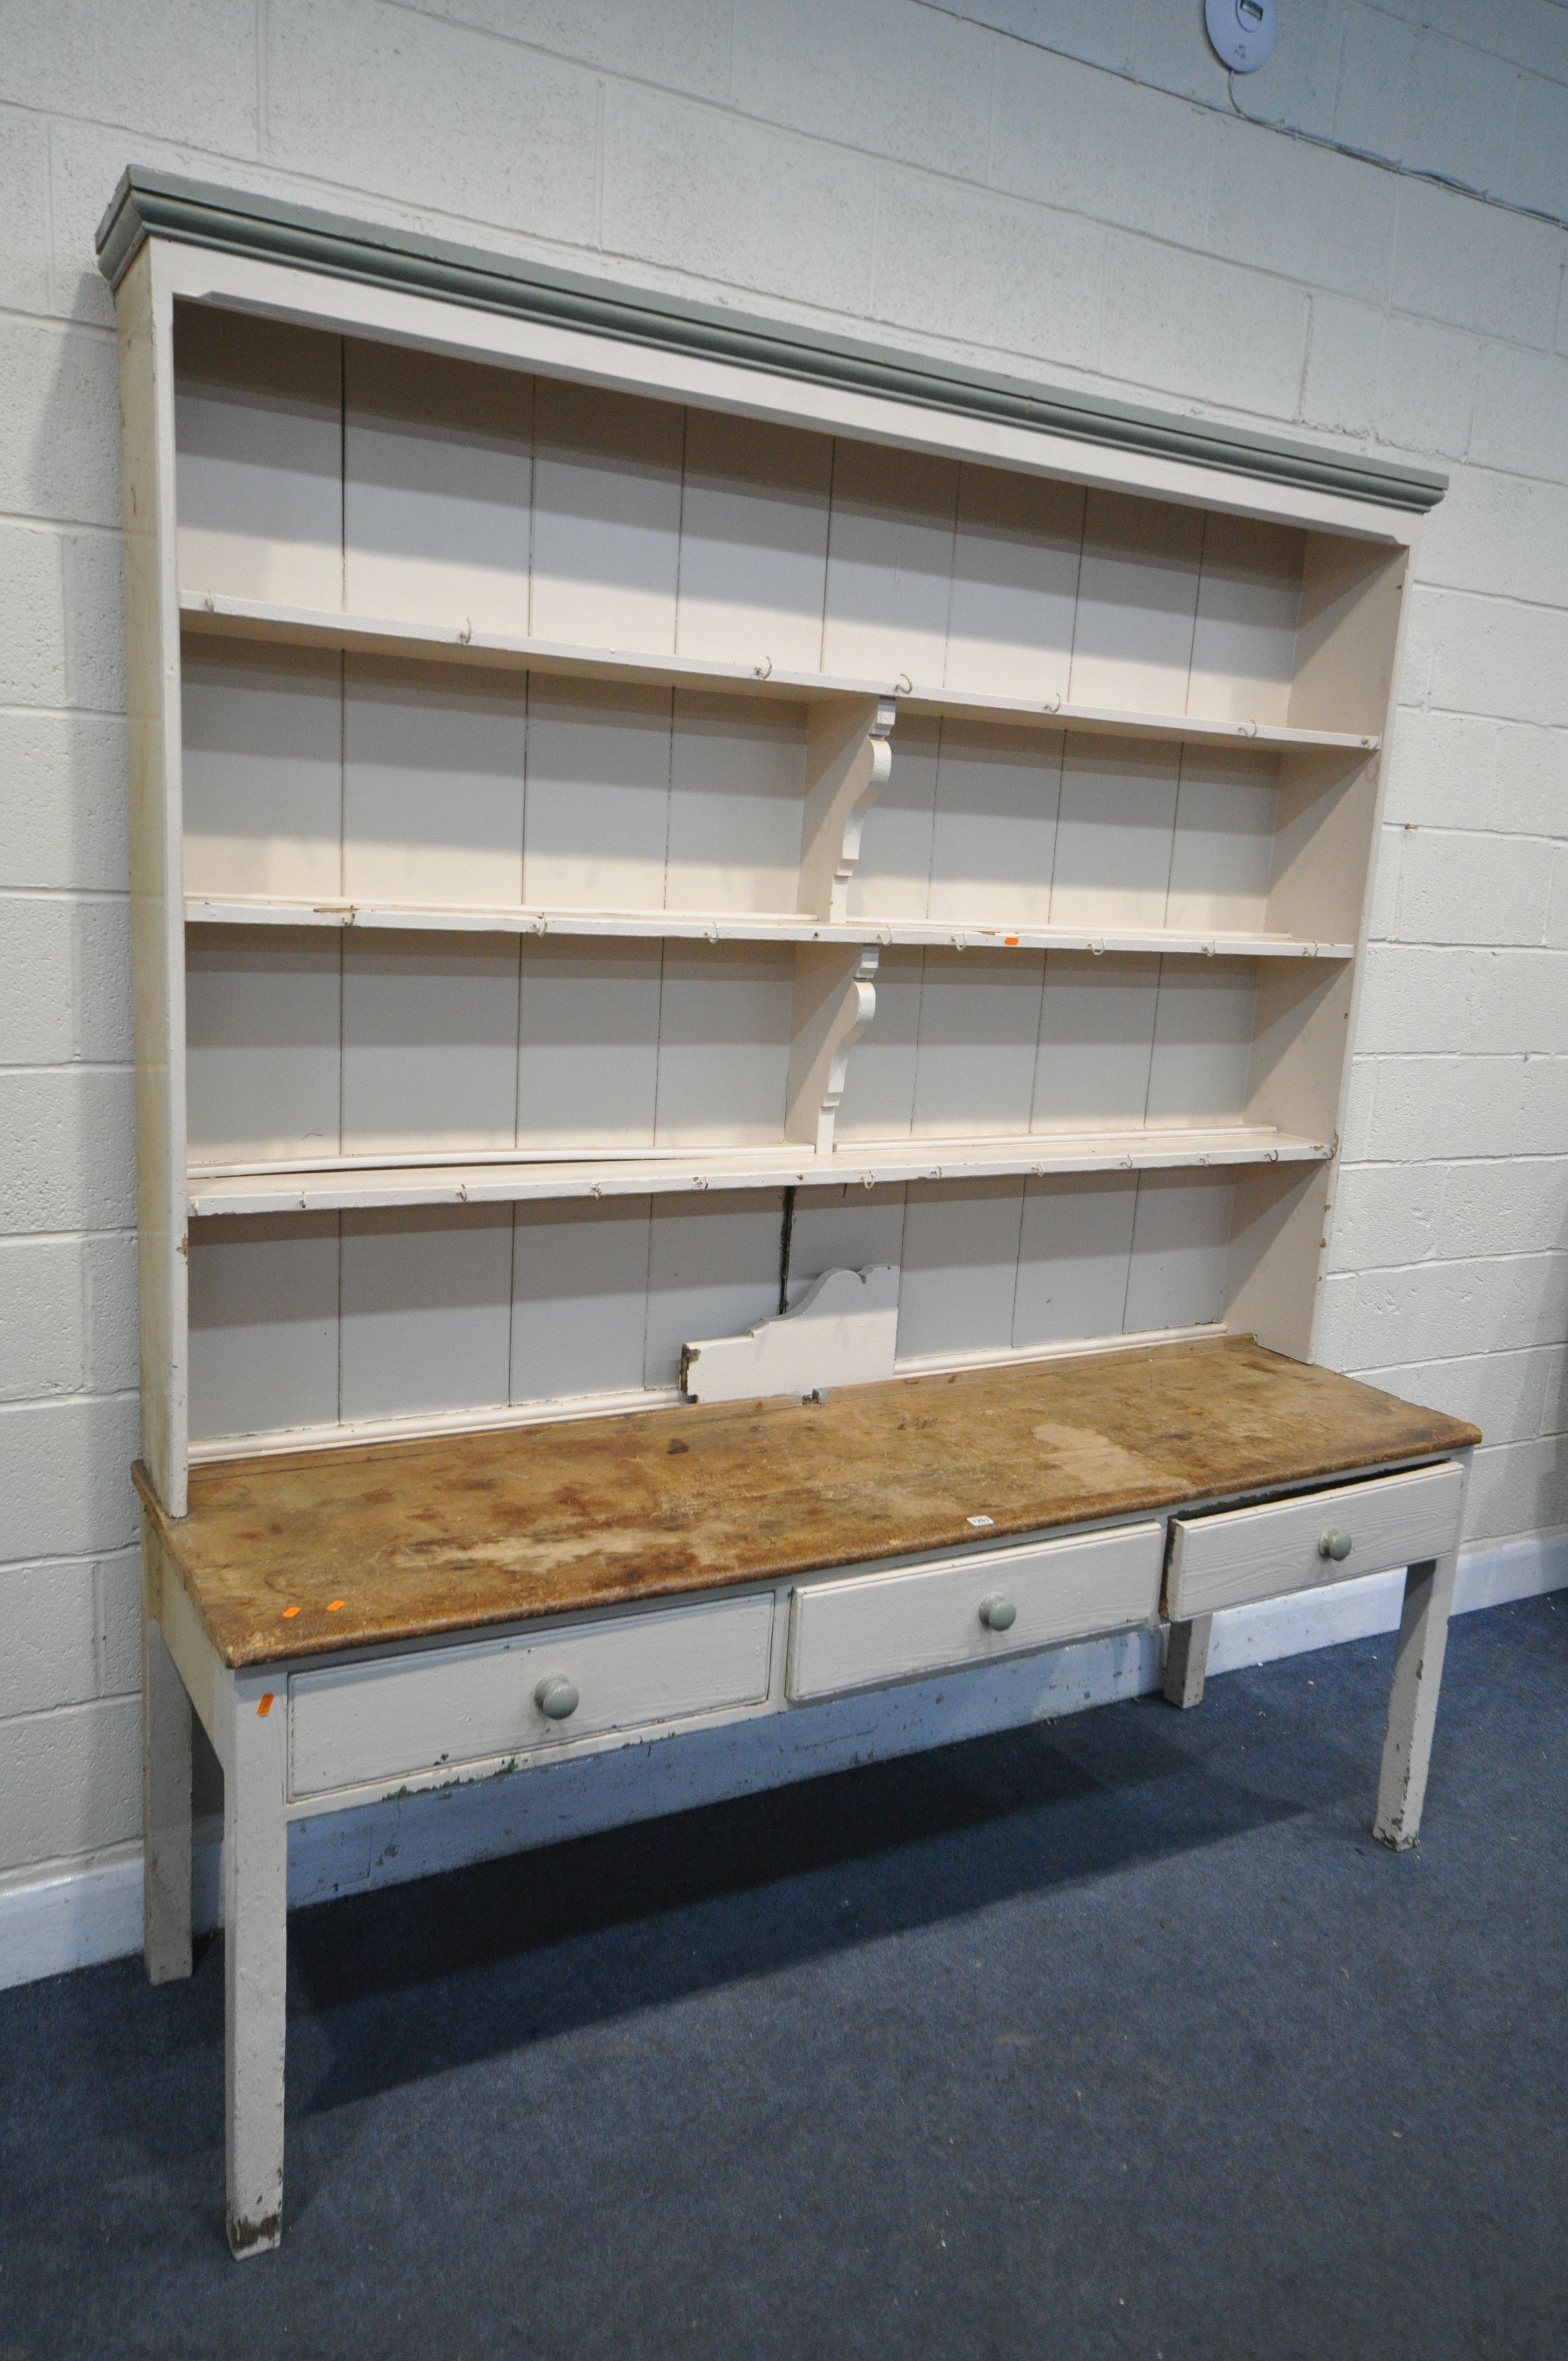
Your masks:
M1568 1594L302 1912L283 2250L222 1953L0 1997L0 2361L1556 2361Z

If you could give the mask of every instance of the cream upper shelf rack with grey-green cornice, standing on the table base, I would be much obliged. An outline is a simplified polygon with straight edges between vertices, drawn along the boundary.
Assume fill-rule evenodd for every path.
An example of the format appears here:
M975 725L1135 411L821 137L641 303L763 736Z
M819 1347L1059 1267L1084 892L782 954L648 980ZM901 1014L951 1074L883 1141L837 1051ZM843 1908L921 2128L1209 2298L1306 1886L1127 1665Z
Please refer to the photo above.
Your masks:
M1436 479L156 175L116 224L170 1513L191 1431L673 1400L829 1268L900 1268L900 1367L1311 1353Z

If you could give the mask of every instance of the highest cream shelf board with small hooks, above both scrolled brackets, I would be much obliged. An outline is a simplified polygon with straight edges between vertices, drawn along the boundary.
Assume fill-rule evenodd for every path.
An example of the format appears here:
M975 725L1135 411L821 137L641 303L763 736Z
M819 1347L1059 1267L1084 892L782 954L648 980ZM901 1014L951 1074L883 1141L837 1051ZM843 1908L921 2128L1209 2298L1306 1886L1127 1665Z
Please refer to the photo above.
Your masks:
M945 689L926 682L845 680L829 673L775 673L741 663L708 663L692 656L654 656L612 647L567 647L553 640L517 640L496 633L442 630L394 616L331 614L312 607L276 607L182 593L187 630L224 640L283 647L331 647L359 656L411 656L425 663L477 663L491 671L536 671L557 678L633 682L640 687L692 687L732 696L786 696L827 704L834 699L895 699L902 713L968 715L1008 727L1074 730L1091 737L1178 739L1200 746L1237 741L1289 751L1377 753L1377 737L1346 730L1289 730L1282 722L1197 720L1185 713L1129 713L1112 706L1027 704Z

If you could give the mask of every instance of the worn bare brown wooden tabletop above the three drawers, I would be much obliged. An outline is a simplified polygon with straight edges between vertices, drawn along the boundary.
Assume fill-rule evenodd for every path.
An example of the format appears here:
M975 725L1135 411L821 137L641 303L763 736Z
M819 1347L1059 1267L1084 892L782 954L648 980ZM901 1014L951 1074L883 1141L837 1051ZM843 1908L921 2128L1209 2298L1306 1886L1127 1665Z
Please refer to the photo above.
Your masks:
M224 1665L1311 1483L1474 1426L1252 1339L191 1469L137 1485ZM989 1518L975 1525L971 1518Z

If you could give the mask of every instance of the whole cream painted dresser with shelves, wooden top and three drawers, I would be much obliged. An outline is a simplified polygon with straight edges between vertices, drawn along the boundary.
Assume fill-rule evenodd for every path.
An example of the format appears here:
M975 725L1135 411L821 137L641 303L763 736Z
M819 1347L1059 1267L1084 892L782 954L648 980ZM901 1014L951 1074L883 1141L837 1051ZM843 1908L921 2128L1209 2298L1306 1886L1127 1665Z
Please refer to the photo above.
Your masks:
M288 1827L1410 1568L1313 1365L1438 477L125 175L146 1964Z

